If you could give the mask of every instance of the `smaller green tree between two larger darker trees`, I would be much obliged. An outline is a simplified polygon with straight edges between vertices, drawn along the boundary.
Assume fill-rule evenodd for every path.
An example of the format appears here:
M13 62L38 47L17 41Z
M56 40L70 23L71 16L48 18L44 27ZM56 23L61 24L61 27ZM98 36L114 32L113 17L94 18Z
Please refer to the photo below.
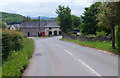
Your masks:
M80 17L72 15L72 28L73 29L79 29L80 24L81 24Z

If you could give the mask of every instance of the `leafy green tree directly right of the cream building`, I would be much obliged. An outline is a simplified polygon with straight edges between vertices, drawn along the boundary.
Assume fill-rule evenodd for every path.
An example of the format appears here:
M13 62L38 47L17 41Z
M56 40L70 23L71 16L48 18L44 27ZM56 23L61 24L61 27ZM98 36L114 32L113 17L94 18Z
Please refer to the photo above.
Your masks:
M67 6L58 6L56 9L56 13L58 14L58 22L60 25L60 29L63 33L68 33L72 30L72 17L71 17L71 9Z

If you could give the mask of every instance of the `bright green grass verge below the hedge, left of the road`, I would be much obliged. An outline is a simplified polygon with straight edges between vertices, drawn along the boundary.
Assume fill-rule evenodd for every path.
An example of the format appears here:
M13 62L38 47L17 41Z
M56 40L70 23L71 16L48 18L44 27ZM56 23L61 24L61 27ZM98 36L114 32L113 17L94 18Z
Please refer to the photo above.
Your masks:
M21 76L25 67L29 64L29 58L34 50L32 39L24 39L24 47L18 52L11 52L7 61L2 65L2 77Z

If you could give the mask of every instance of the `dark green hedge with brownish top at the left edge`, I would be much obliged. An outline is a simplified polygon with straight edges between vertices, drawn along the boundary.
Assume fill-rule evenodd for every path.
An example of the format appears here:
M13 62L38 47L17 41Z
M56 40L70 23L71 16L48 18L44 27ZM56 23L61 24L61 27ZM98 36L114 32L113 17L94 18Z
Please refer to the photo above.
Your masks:
M11 51L19 51L23 46L23 35L20 32L2 30L2 59L5 60Z

